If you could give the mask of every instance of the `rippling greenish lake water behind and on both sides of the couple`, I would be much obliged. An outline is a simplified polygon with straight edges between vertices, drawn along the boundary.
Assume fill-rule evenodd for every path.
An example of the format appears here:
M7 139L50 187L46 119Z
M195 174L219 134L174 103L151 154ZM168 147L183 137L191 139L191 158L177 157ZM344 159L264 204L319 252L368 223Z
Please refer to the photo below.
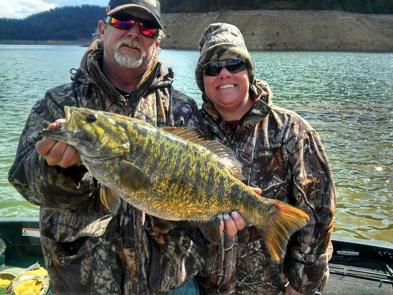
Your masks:
M37 217L8 183L33 103L69 82L85 48L0 45L0 217ZM334 235L393 243L393 54L253 52L256 77L274 102L306 118L321 137L337 188ZM200 106L197 51L163 50L174 87Z

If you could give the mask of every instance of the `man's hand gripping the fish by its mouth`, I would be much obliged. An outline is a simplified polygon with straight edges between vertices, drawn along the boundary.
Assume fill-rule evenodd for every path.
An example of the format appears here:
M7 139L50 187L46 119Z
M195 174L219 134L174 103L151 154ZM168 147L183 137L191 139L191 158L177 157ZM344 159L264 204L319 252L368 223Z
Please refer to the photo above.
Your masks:
M51 123L49 129L57 129L64 125L65 119ZM37 152L46 160L49 166L58 165L68 168L81 162L79 152L72 146L44 137L35 144Z

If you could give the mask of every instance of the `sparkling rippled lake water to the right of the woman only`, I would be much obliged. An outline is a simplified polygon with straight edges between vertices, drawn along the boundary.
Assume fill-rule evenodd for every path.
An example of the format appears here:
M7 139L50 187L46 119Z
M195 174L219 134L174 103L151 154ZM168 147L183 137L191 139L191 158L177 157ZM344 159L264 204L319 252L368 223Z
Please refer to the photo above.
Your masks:
M254 54L257 76L269 82L274 102L306 118L324 143L336 182L339 236L393 242L392 57Z

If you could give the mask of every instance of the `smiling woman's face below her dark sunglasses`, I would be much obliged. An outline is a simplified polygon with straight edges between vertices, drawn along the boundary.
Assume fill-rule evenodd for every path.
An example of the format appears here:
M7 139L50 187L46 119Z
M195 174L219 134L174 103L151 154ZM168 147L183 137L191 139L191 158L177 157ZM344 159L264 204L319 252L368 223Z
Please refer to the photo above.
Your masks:
M232 74L223 67L217 76L203 75L203 83L207 96L218 111L236 110L247 104L250 88L247 69Z

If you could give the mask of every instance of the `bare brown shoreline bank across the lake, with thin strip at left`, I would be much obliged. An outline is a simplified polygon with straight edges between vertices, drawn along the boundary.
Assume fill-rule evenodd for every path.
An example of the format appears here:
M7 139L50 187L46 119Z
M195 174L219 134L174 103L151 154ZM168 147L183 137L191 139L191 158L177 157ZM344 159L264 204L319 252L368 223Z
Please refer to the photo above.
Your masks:
M168 49L198 49L211 23L237 26L251 51L365 51L393 52L393 14L342 11L225 10L161 15ZM89 40L0 40L0 44L81 45Z

